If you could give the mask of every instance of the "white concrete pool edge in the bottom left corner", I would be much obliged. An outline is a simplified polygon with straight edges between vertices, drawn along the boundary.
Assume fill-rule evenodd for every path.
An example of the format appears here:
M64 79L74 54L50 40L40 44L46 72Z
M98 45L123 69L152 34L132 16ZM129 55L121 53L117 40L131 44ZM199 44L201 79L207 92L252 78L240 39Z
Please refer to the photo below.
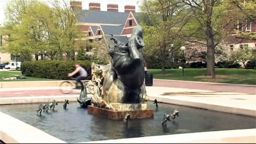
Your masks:
M4 143L66 143L21 120L0 112L0 140Z

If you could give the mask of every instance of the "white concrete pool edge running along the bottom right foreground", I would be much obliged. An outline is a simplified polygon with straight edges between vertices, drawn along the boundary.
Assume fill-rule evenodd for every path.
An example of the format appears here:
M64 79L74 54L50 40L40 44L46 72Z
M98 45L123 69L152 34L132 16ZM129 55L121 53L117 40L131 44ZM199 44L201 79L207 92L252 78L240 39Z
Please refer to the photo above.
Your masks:
M256 143L256 129L196 132L82 143Z

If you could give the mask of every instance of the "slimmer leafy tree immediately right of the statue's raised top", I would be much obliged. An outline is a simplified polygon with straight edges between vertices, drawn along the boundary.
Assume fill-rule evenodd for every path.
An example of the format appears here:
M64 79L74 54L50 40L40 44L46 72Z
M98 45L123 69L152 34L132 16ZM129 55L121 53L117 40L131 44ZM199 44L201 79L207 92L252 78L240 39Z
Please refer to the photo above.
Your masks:
M189 20L184 8L180 0L143 0L140 6L146 42L143 51L145 56L154 54L160 60L162 74L165 74L170 45L174 44L178 50L184 44L177 37Z

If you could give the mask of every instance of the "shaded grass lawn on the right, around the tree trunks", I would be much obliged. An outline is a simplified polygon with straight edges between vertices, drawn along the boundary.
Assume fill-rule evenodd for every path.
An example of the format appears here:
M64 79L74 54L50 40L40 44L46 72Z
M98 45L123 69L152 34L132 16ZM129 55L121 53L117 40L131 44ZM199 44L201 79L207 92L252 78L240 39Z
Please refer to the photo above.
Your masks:
M251 69L216 69L216 79L205 76L206 69L203 68L184 69L184 76L182 76L182 69L166 69L165 75L162 75L161 69L148 69L148 71L153 73L155 79L256 85L256 70Z

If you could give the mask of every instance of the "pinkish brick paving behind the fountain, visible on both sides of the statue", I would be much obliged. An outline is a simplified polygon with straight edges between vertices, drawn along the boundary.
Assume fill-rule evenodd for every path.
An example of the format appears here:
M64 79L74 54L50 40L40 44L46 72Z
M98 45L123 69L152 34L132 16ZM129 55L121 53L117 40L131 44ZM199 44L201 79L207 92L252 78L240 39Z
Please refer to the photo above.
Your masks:
M227 85L227 84L210 84L200 82L183 82L183 81L163 81L154 79L154 86L172 87L172 88L188 88L196 90L209 90L216 92L233 92L256 94L256 87L246 85ZM70 94L63 94L60 90L24 90L24 91L0 91L0 98L4 97L32 97L32 96L61 96L76 95L79 91L73 91Z

